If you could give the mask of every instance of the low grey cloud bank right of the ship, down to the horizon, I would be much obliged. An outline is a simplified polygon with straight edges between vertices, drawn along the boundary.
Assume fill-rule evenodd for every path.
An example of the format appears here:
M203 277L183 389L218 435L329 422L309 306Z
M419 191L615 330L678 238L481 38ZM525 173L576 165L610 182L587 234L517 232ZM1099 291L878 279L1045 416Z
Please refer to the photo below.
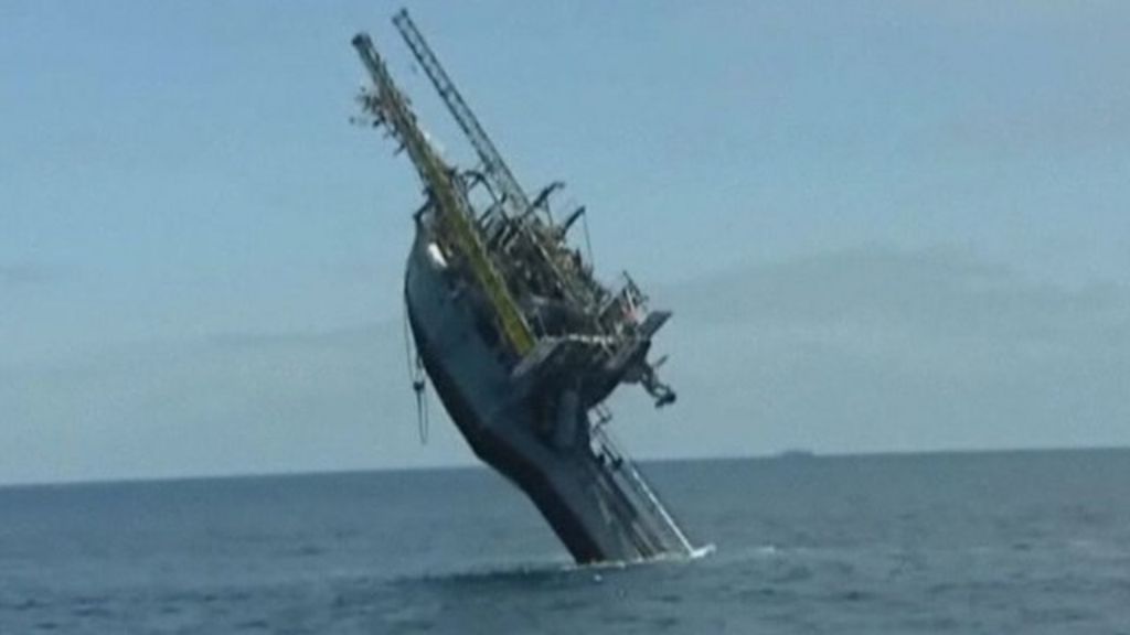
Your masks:
M647 454L1130 444L1125 287L860 247L657 296L676 311L657 347L680 393L671 415L627 412Z

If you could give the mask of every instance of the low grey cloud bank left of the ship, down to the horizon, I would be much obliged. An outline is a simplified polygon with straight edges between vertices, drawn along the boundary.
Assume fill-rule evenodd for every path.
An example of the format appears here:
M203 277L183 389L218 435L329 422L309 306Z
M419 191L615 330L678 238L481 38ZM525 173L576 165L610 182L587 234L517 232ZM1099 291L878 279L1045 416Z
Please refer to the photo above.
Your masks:
M0 482L469 462L442 416L420 447L409 385L398 322L0 366Z

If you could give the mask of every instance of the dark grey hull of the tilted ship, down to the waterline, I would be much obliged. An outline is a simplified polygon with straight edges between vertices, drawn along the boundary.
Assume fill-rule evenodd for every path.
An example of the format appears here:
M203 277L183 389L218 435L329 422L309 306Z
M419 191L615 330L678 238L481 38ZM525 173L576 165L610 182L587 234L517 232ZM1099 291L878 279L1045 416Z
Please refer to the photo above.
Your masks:
M412 336L476 455L530 497L580 563L689 555L670 514L585 412L572 421L547 420L428 244L420 225L405 278Z

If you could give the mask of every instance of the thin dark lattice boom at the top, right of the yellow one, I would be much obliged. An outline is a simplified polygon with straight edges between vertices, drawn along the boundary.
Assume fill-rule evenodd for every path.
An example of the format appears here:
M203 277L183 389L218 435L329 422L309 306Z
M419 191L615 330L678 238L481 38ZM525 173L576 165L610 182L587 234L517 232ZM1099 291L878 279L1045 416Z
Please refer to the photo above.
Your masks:
M424 67L424 72L427 73L428 79L432 80L432 85L440 93L443 103L446 104L447 110L455 118L455 123L459 124L459 128L470 140L471 146L475 147L475 151L479 155L479 160L483 162L484 174L486 174L490 184L503 194L507 211L518 216L524 215L530 209L530 199L525 195L518 180L514 179L514 174L510 171L506 162L503 160L502 155L498 154L490 138L487 137L486 131L483 130L479 120L475 118L475 113L471 112L470 106L467 105L467 102L459 94L455 84L447 77L447 72L443 70L443 66L440 64L440 60L432 52L432 49L428 47L427 42L416 28L412 19L408 17L408 11L406 9L398 11L392 18L392 23L397 26L397 31L400 32L401 37L405 38L405 43L412 51L416 61Z

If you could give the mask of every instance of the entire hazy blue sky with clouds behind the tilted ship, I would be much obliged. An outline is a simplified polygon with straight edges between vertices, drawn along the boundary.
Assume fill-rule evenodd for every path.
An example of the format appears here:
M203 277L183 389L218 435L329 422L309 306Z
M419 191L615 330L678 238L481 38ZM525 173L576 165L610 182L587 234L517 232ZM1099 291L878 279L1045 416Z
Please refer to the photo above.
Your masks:
M0 3L0 484L473 463L421 445L419 186L358 2ZM409 6L527 190L675 319L644 458L1130 444L1130 5Z

